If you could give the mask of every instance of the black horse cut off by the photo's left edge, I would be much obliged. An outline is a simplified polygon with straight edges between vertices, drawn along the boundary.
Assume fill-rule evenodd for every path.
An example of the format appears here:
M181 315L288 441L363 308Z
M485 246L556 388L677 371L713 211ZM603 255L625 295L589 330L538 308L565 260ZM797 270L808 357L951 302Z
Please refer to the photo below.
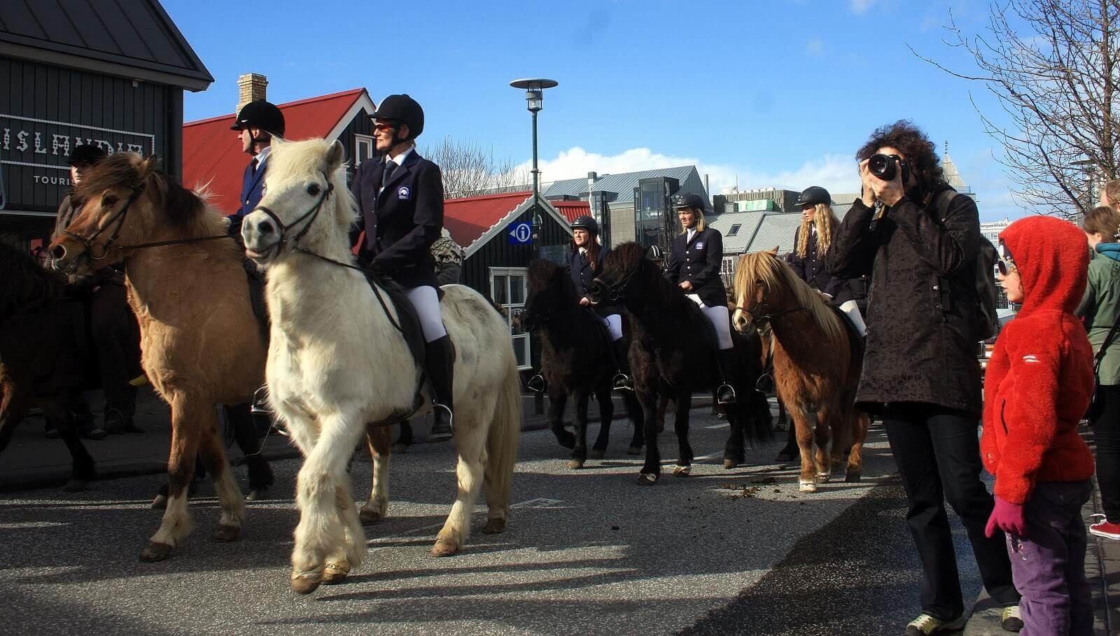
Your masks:
M65 489L85 489L96 469L78 439L75 400L81 391L95 387L97 380L85 337L84 308L66 299L62 274L3 243L0 281L0 452L27 411L38 405L73 459Z

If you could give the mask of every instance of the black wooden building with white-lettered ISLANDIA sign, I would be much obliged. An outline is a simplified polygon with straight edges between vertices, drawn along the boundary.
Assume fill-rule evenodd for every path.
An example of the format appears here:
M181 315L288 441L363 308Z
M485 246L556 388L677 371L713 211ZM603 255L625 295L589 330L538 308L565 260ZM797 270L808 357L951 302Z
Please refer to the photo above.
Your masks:
M158 0L0 1L0 238L49 236L77 144L180 177L183 92L213 82Z

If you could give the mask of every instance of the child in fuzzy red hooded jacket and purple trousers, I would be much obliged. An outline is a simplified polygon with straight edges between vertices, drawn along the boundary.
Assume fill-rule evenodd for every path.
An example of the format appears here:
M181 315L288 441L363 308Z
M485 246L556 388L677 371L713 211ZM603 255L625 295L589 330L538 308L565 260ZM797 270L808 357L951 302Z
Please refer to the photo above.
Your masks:
M1007 534L1023 634L1092 634L1085 524L1093 456L1077 422L1093 392L1093 350L1073 315L1085 290L1085 238L1034 216L1000 233L1000 280L1023 309L996 340L984 377L984 467L996 476L991 536Z

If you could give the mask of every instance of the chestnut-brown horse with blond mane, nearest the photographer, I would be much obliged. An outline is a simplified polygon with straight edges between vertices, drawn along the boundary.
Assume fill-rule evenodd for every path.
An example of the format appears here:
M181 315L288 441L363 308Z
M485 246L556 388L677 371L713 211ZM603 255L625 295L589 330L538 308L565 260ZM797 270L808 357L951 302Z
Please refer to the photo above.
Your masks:
M814 493L818 483L828 481L848 449L846 479L858 481L868 419L855 408L864 361L846 318L771 252L739 259L735 289L735 328L744 331L753 326L771 342L778 399L796 427L801 492ZM815 465L812 413L816 414Z

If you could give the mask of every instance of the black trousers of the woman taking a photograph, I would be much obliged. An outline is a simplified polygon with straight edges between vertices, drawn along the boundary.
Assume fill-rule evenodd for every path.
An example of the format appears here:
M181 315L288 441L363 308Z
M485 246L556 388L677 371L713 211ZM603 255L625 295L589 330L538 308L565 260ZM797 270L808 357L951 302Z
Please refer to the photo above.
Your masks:
M1017 605L1004 533L984 536L993 499L980 480L977 418L935 404L892 404L883 421L906 490L906 523L925 571L922 611L945 620L964 611L946 499L968 531L988 593L1005 607Z

